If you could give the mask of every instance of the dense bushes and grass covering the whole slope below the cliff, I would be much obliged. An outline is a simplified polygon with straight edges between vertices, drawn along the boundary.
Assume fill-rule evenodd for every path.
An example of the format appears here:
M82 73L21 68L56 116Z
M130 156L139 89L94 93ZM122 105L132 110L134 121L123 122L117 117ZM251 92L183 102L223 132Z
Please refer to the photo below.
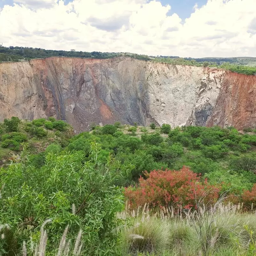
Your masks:
M2 255L19 254L21 247L25 255L31 244L39 244L42 256L47 245L46 253L52 255L59 242L58 256L68 255L69 246L74 247L74 255L134 255L137 251L154 255L162 249L162 255L183 255L179 250L188 253L200 218L213 218L207 215L208 206L221 202L234 214L240 207L235 205L243 203L244 211L254 211L255 129L239 133L233 127L172 129L168 124L140 127L120 123L92 128L74 135L68 124L52 117L32 122L12 117L0 125ZM142 213L141 220L133 219L143 205L148 217ZM156 218L159 207L162 210ZM193 219L193 211L201 217ZM219 228L212 227L215 217L220 217L214 213L215 222L206 221L211 226L206 234L210 238L202 240L197 235L197 248L184 255L254 255L256 220L255 215L248 215L250 225L243 222L249 218L246 214L232 215L227 233L221 225L228 217L220 218ZM183 222L184 216L190 219ZM165 228L174 230L170 233ZM222 240L221 230L226 232L226 240ZM236 243L227 242L230 234ZM211 239L217 238L220 245L211 247ZM237 254L220 252L225 243ZM36 254L34 250L29 255ZM245 252L252 254L242 254Z

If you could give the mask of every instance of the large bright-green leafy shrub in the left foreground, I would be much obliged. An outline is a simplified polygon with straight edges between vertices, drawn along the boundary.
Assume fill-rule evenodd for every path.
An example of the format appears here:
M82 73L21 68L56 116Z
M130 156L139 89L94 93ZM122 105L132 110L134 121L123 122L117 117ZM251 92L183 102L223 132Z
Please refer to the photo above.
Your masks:
M20 230L20 223L27 227L28 217L32 224L29 232L14 233L13 240L19 247L24 240L37 237L35 226L40 227L50 217L52 221L44 228L52 251L68 225L71 244L75 243L74 234L85 231L81 255L116 255L120 226L126 223L116 216L123 209L124 197L113 182L129 172L129 167L120 169L112 157L99 162L100 151L98 144L92 143L90 161L86 163L82 152L49 153L39 169L27 160L29 155L24 151L20 163L1 169L1 182L6 186L1 191L4 214L0 214L0 223L8 223L15 231ZM0 242L3 245L2 239ZM6 255L11 253L5 244L4 249Z

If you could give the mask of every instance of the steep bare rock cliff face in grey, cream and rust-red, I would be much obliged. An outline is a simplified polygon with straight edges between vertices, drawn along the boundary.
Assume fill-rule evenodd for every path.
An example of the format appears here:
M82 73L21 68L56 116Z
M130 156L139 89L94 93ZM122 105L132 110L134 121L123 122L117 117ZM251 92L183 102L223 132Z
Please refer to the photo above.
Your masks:
M92 122L172 127L256 125L256 76L132 58L0 64L0 121L55 116L77 132Z

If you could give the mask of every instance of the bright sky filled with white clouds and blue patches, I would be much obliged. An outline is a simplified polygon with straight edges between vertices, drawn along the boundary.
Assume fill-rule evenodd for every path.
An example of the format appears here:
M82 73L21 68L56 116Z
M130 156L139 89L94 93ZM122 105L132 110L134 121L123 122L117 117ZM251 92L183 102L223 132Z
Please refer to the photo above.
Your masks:
M0 0L0 44L256 57L256 0Z

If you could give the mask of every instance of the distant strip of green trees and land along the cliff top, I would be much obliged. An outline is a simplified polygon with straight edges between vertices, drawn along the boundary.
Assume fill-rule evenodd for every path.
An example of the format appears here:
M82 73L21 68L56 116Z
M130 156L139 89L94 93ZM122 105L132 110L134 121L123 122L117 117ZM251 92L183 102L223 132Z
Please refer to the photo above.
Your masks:
M47 57L77 57L77 58L96 58L96 59L109 59L118 56L128 56L138 60L151 60L155 62L164 62L170 64L180 64L180 65L190 65L197 67L217 67L231 70L233 72L254 75L256 74L256 62L252 58L249 61L238 60L237 58L180 58L178 56L147 56L143 54L127 53L127 52L76 52L74 49L70 51L54 51L45 50L42 48L32 48L32 47L19 47L10 46L3 47L0 46L0 62L6 61L20 61L20 60L30 60L38 58ZM247 66L248 64L248 66Z

